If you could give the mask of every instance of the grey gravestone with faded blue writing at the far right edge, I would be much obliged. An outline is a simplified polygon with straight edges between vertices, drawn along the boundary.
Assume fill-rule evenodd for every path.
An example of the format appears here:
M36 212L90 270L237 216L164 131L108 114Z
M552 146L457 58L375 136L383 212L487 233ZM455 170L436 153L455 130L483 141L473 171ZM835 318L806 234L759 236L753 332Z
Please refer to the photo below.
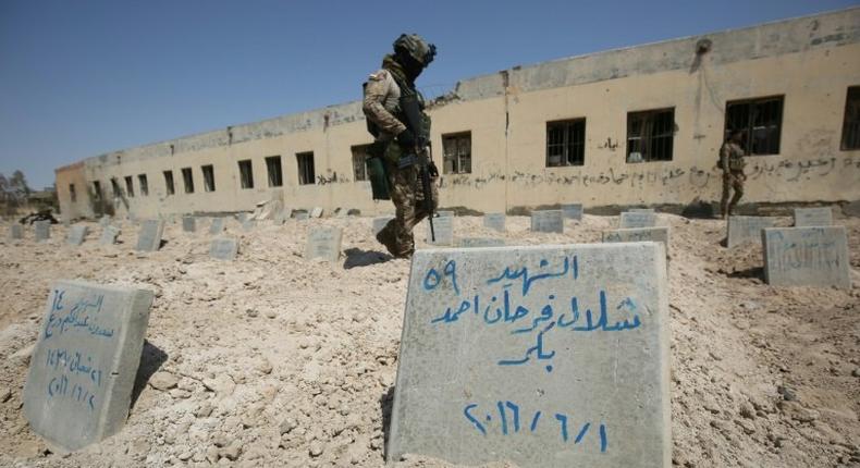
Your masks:
M762 242L767 284L851 288L844 226L765 227Z

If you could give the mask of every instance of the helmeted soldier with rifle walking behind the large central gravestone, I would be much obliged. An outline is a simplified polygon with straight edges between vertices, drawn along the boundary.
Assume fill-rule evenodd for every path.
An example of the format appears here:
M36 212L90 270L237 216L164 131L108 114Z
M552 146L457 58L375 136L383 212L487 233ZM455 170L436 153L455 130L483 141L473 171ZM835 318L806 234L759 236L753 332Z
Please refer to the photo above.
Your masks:
M419 181L422 169L418 158L427 157L430 118L423 111L421 94L415 88L415 79L434 56L435 46L418 35L403 34L394 41L394 53L383 58L382 69L365 84L363 110L368 131L376 139L368 153L370 159L377 158L368 162L368 175L373 184L374 174L379 175L381 170L388 182L385 194L378 194L373 187L373 198L390 196L395 207L395 218L377 234L377 241L397 258L411 257L413 227L430 215L438 202L433 182L432 209L427 209ZM439 172L432 161L428 170L435 181Z

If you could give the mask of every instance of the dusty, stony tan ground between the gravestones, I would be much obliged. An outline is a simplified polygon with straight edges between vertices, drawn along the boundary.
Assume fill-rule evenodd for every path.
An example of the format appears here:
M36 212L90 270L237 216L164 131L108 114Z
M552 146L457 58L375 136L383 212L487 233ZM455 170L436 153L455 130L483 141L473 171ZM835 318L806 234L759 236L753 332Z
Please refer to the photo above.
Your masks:
M672 226L669 298L674 464L684 467L860 466L860 219L849 231L851 291L773 288L760 246L720 246L723 223L661 214ZM535 234L508 217L509 244L592 243L617 217ZM781 219L788 225L788 218ZM302 255L314 224L345 226L337 263ZM385 424L409 262L380 254L369 218L288 221L242 238L239 258L208 258L205 232L169 224L167 244L133 251L52 239L0 241L0 465L323 467L383 465ZM459 236L499 236L481 218ZM419 236L420 237L420 236ZM419 243L419 246L422 244ZM27 347L57 279L156 292L125 429L60 456L22 415ZM407 458L402 467L443 467ZM494 468L507 467L504 463Z

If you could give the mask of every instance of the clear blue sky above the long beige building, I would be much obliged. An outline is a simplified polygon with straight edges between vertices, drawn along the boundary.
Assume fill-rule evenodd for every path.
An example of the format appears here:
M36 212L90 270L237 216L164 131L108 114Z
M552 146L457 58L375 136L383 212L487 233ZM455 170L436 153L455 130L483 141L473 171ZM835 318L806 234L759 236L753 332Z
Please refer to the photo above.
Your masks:
M0 0L0 173L360 99L401 33L428 97L516 65L860 5L844 0Z

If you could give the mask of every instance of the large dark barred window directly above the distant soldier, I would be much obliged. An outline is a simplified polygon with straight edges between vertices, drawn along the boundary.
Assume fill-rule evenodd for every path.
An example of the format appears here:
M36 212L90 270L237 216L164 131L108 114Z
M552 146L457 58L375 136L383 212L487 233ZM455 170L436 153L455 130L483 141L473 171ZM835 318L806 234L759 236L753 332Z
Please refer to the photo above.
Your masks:
M784 109L785 96L782 95L726 101L723 140L728 139L733 132L741 131L744 155L778 155Z

